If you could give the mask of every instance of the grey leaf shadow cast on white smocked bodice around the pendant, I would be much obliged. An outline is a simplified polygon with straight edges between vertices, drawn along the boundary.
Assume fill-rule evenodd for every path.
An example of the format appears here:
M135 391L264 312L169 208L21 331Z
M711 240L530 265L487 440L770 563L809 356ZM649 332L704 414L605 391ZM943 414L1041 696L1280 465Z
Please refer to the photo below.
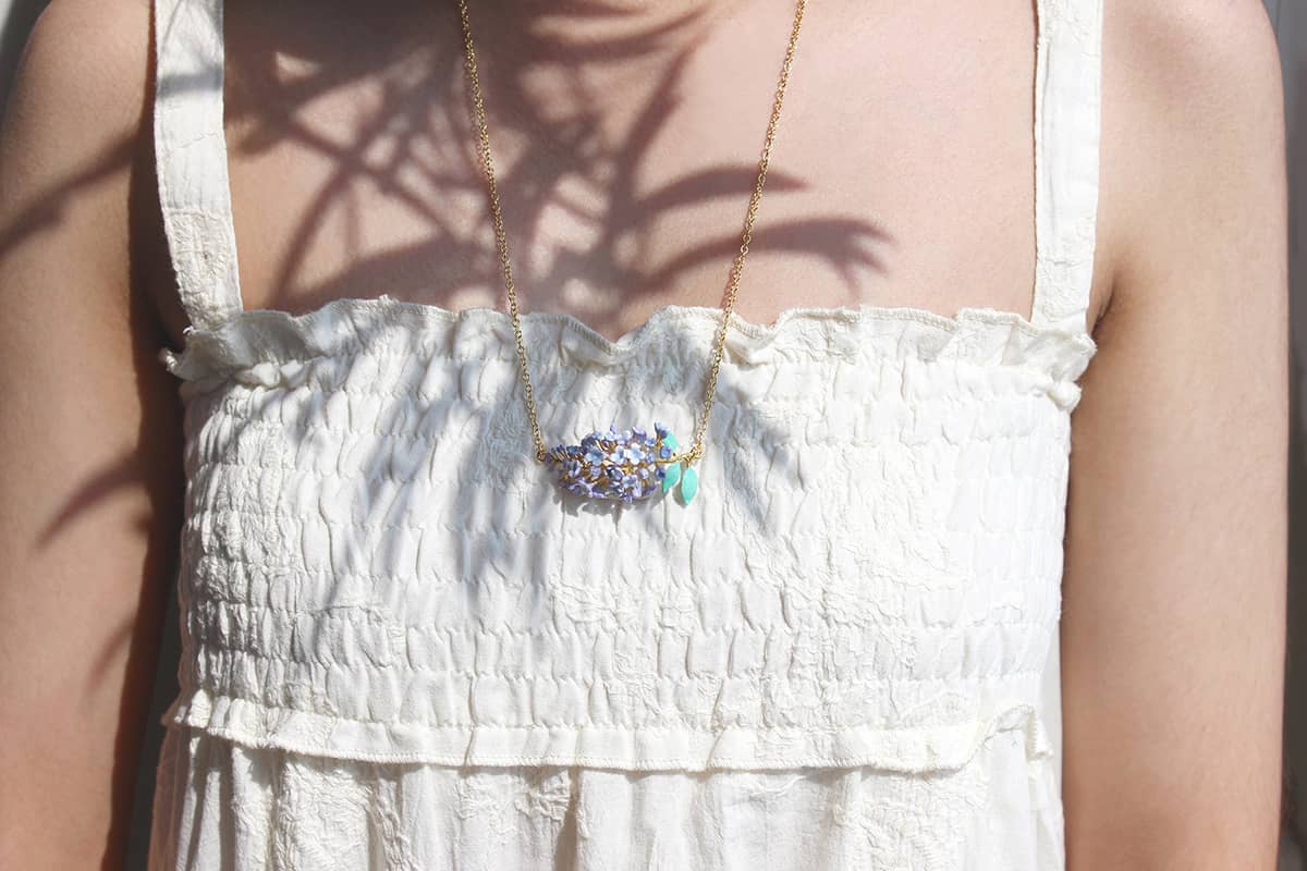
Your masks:
M365 346L367 343L363 342ZM687 355L703 350L681 349ZM669 351L676 353L672 349ZM548 534L548 530L537 528L536 520L549 517L552 511L571 517L608 516L612 518L616 542L623 528L657 529L667 522L668 515L674 524L677 513L685 511L680 504L660 504L660 500L673 501L676 498L670 494L623 505L586 500L562 491L553 484L549 470L538 466L533 458L515 366L503 360L495 363L498 375L493 383L499 396L494 400L450 402L447 397L417 396L417 385L427 363L429 360L414 355L409 375L403 377L399 389L383 396L380 405L375 407L375 420L352 422L353 431L371 427L379 435L371 441L372 451L350 457L349 471L331 484L342 490L336 495L337 500L349 500L349 524L328 524L314 516L282 517L276 505L269 505L268 515L250 517L248 522L271 525L272 529L264 535L255 530L248 530L247 534L260 535L271 545L285 542L291 546L290 552L282 554L273 552L269 547L261 556L268 560L267 569L290 573L302 568L327 571L336 581L331 607L376 607L380 603L363 592L375 585L371 589L384 595L380 593L384 584L378 582L400 578L420 585L461 585L467 588L468 595L474 595L476 588L486 578L503 576L506 564L527 568L527 576L511 578L514 584L535 589L536 594L546 597L549 580L561 571L559 554L557 548L545 546L542 534ZM687 385L685 396L678 401L673 398L652 405L643 402L637 390L625 388L626 384L647 387L644 376L633 377L620 367L569 366L554 354L541 355L541 363L548 363L549 367L549 373L537 380L537 387L545 396L622 397L617 402L605 401L601 405L555 402L541 407L541 428L550 445L572 441L591 430L605 428L610 422L616 422L620 428L630 423L651 427L660 414L659 409L668 410L673 404L681 406L674 410L687 423L698 410L698 385ZM448 366L448 362L437 360L433 364ZM702 370L706 372L706 362ZM348 379L349 375L344 377ZM612 385L614 379L617 389ZM733 366L724 363L719 396L736 394L733 381ZM333 428L328 422L325 402L285 400L284 392L271 390L265 397L264 410L268 414L260 415L260 409L255 405L251 409L252 419L233 426L226 437L233 443L250 443L257 437L254 435L255 430L267 431L265 419L276 420L274 437L267 444L273 445L278 456L294 457L316 434ZM286 414L288 410L293 414ZM731 511L740 515L749 526L741 530L741 543L758 541L759 537L782 535L783 530L769 528L765 507L769 488L797 486L795 458L786 448L793 443L793 432L737 402L715 406L711 432L714 436L708 437L704 462L724 464L720 481L731 491L706 492L699 499L728 500ZM721 439L729 432L749 434L758 449L766 452L766 464L737 456L740 451L753 448L738 437ZM687 439L689 428L682 430L682 434ZM459 488L457 517L430 515L433 477ZM269 494L269 498L281 505L290 503L289 494ZM447 504L444 499L438 501ZM460 518L474 518L474 525L463 524ZM315 528L322 525L331 541L322 542L305 535L303 524ZM549 528L553 526L549 521ZM440 542L446 555L440 563L456 565L457 576L425 576L421 568L416 568L418 554L414 552L414 537L421 541L421 547ZM319 552L295 548L299 542L310 541L318 542L315 550ZM327 547L329 554L324 552ZM512 548L525 548L527 552L519 552L514 558L507 552ZM648 569L657 571L657 567L650 565Z

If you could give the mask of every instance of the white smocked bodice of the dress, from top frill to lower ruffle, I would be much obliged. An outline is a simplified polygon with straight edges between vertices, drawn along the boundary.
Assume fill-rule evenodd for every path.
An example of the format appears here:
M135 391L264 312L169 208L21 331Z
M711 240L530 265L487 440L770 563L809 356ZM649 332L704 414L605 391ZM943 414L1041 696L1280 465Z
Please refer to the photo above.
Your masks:
M720 312L528 315L545 434L689 434ZM371 760L958 765L1046 747L1087 336L992 309L728 332L702 498L536 464L508 317L246 312L186 379L188 723Z

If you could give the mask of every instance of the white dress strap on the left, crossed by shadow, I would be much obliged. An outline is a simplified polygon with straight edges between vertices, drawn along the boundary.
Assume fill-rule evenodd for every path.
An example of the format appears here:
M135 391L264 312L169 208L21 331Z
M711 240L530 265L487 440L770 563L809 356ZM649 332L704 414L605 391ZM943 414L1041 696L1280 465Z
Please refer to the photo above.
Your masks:
M193 329L242 309L222 128L222 0L154 0L154 159L163 231Z

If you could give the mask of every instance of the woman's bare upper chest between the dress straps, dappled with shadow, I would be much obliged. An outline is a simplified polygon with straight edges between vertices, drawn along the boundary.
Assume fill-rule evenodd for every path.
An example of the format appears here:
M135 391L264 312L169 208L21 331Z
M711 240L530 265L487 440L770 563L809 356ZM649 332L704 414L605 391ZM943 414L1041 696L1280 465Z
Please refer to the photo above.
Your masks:
M805 13L736 311L1029 315L1030 9L955 21L846 5ZM370 13L366 29L332 20L359 13L308 14L227 14L244 307L384 293L506 308L454 10ZM770 1L622 25L473 12L524 311L612 338L664 304L721 304L791 14ZM162 304L179 334L184 316Z

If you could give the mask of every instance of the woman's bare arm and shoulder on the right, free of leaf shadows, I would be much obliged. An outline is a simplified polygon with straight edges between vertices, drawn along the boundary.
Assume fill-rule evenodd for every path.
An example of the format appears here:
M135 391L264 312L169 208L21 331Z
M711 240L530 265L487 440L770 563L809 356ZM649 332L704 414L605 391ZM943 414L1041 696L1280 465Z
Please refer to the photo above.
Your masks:
M1063 599L1068 864L1273 868L1286 582L1283 104L1259 0L1110 1ZM1111 256L1106 256L1110 253Z

